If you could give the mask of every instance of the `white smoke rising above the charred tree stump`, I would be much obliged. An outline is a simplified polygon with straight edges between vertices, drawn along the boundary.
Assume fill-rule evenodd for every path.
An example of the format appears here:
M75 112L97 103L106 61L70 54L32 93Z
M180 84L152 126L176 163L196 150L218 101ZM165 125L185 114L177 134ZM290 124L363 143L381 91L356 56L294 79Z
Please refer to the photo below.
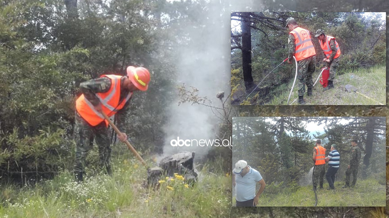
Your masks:
M198 95L212 100L212 105L221 106L221 102L216 98L216 93L224 91L225 100L228 97L231 87L230 69L230 22L232 8L247 11L247 2L252 0L210 1L203 14L197 16L200 28L193 28L187 25L183 32L187 33L191 42L188 46L175 50L181 57L176 62L178 71L177 86L186 84L187 90L193 86L199 90ZM239 4L239 5L238 5ZM261 7L257 3L257 7ZM172 102L170 108L170 119L165 126L166 140L163 155L171 155L180 151L194 151L196 157L203 157L210 147L173 147L171 140L177 137L183 140L214 140L216 139L217 126L220 119L217 118L209 107L191 103L178 106L178 100ZM228 149L227 147L217 147L217 149Z

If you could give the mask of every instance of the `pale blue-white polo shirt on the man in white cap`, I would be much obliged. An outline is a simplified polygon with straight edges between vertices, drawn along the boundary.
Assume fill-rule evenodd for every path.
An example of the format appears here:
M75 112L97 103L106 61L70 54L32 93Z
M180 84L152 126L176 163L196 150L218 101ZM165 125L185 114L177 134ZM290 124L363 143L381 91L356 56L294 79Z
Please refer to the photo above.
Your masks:
M250 166L249 166L250 167ZM248 201L255 197L255 185L262 179L261 174L250 167L249 172L243 177L235 173L235 192L237 201Z

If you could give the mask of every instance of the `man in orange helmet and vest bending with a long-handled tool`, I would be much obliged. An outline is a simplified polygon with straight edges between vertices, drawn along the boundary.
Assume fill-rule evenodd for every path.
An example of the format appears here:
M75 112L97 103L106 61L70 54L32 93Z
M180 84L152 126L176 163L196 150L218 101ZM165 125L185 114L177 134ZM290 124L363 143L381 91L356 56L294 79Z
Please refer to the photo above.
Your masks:
M134 69L138 70L138 73L133 73ZM146 73L143 73L146 72ZM143 73L143 74L142 74ZM134 76L135 75L135 76ZM110 77L108 77L110 76ZM148 78L145 79L145 76ZM133 78L135 77L135 78ZM113 79L115 78L115 79ZM145 81L145 83L142 81ZM114 81L115 80L115 81ZM150 74L147 69L144 67L128 67L127 68L127 76L114 76L114 75L103 75L98 79L93 79L89 81L85 81L80 84L80 90L82 92L83 101L88 102L88 105L79 103L79 100L82 99L79 97L77 99L76 111L75 111L75 127L74 127L74 135L75 135L75 143L76 143L76 153L75 153L75 163L74 163L74 175L76 180L83 180L84 167L86 166L86 155L88 151L93 147L93 140L96 141L98 145L99 151L99 165L102 171L107 174L111 174L110 167L110 137L109 137L109 129L107 123L104 119L92 119L92 121L88 120L94 118L92 116L89 118L88 116L82 116L84 114L83 110L79 107L88 107L88 110L95 112L96 114L100 114L103 111L102 107L107 107L107 102L102 99L99 94L107 94L111 99L112 96L118 97L119 103L118 105L108 105L108 107L112 106L115 111L115 119L118 121L117 126L119 129L122 129L125 125L125 119L123 117L127 113L129 109L129 102L134 91L147 90L147 83L150 80ZM143 86L138 84L137 81L144 84ZM120 88L119 87L120 83ZM111 88L111 85L114 87ZM99 95L99 96L97 96ZM107 97L108 98L108 97ZM103 101L103 102L102 102ZM108 100L107 100L108 101ZM116 102L116 101L115 101ZM116 104L116 103L109 103ZM119 107L119 104L121 105ZM124 106L123 106L124 104ZM81 106L80 106L81 105ZM103 105L103 106L102 106ZM120 109L119 109L120 108ZM82 111L82 113L80 113ZM112 112L113 113L113 112ZM100 123L99 123L100 122ZM94 125L91 125L93 123ZM95 125L97 124L97 125ZM127 135L125 133L118 134L117 138L122 142L127 140Z

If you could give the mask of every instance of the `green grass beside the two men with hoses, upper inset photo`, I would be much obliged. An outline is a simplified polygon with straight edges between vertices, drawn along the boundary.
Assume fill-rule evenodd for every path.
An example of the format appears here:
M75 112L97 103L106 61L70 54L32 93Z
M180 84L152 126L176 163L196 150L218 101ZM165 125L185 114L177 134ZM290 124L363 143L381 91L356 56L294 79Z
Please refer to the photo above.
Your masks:
M312 76L315 82L319 76L320 71L316 70ZM353 76L353 78L350 78ZM368 69L356 69L346 71L344 74L335 76L335 89L322 92L322 86L319 82L313 88L313 95L311 97L304 96L307 105L378 105L380 103L386 104L386 69L385 66L373 66ZM289 104L294 99L298 98L297 87L298 80L294 85L294 89L289 100ZM345 85L350 84L357 88L357 92L370 97L368 99L358 93L346 92ZM293 85L293 80L290 81L283 91L277 90L279 95L268 102L269 105L286 105L289 97L290 89ZM307 91L307 87L305 87ZM298 104L297 101L293 103Z

